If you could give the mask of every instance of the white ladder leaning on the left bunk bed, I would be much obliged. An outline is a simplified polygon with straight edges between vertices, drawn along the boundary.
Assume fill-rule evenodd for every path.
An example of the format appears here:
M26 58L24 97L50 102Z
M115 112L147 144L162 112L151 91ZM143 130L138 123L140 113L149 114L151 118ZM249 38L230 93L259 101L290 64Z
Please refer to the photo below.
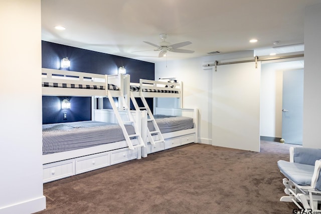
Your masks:
M130 112L130 109L127 107L127 103L125 102L125 97L122 95L119 98L122 99L123 110L126 111L126 116L128 118L128 121L123 121L123 119L121 118L121 116L119 114L118 108L115 105L115 102L113 100L112 95L110 93L108 93L109 102L110 102L110 104L111 104L111 106L112 106L112 108L114 110L114 113L115 113L116 119L118 121L118 124L120 125L120 127L121 127L121 129L122 129L122 131L124 133L124 137L126 139L126 142L127 142L127 145L129 147L129 149L145 147L145 143L142 140L140 131L139 131L138 127L137 127L137 123L135 122L134 117L133 117L132 113ZM125 124L131 124L134 127L135 134L129 135L127 130L126 130L126 128L125 128ZM138 140L138 144L137 145L132 145L131 140L130 140L130 138L132 138L132 137L135 137Z

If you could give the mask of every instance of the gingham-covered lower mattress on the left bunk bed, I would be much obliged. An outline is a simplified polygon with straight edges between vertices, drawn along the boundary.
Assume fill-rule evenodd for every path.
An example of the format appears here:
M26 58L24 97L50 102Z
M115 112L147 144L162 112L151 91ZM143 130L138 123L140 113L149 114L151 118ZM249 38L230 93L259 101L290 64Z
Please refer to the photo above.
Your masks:
M132 125L125 125L128 134L135 134ZM79 121L43 125L43 154L71 151L125 140L118 124Z

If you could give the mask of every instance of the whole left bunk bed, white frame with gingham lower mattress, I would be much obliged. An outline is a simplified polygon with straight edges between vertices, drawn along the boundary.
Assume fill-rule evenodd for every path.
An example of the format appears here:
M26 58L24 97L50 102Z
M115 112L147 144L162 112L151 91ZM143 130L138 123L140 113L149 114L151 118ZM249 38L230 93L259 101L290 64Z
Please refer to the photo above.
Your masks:
M141 158L144 143L140 113L132 114L125 105L116 107L112 99L123 99L122 78L123 75L42 69L43 95L92 97L92 106L96 105L96 97L108 97L113 107L107 110L112 120L43 125L44 183ZM95 114L94 109L92 112Z

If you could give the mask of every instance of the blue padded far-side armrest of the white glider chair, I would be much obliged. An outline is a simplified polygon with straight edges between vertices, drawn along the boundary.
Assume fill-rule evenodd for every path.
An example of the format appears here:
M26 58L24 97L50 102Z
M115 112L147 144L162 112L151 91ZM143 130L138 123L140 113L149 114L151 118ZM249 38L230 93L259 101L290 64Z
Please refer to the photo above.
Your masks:
M293 154L291 154L291 152ZM290 147L290 162L308 164L314 166L315 160L321 159L321 149Z

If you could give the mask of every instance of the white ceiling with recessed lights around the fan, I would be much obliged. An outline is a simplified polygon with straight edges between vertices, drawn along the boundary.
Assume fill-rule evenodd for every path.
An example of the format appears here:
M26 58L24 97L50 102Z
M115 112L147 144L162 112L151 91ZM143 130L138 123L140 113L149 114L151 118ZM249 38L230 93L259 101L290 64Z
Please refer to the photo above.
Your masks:
M147 62L302 44L304 8L319 0L42 0L42 40ZM54 26L66 27L58 31ZM171 44L193 54L158 58L153 44L168 34ZM249 43L256 38L257 43ZM279 44L273 45L273 42ZM300 45L299 47L301 47ZM145 51L149 50L149 51ZM142 52L137 52L142 51Z

